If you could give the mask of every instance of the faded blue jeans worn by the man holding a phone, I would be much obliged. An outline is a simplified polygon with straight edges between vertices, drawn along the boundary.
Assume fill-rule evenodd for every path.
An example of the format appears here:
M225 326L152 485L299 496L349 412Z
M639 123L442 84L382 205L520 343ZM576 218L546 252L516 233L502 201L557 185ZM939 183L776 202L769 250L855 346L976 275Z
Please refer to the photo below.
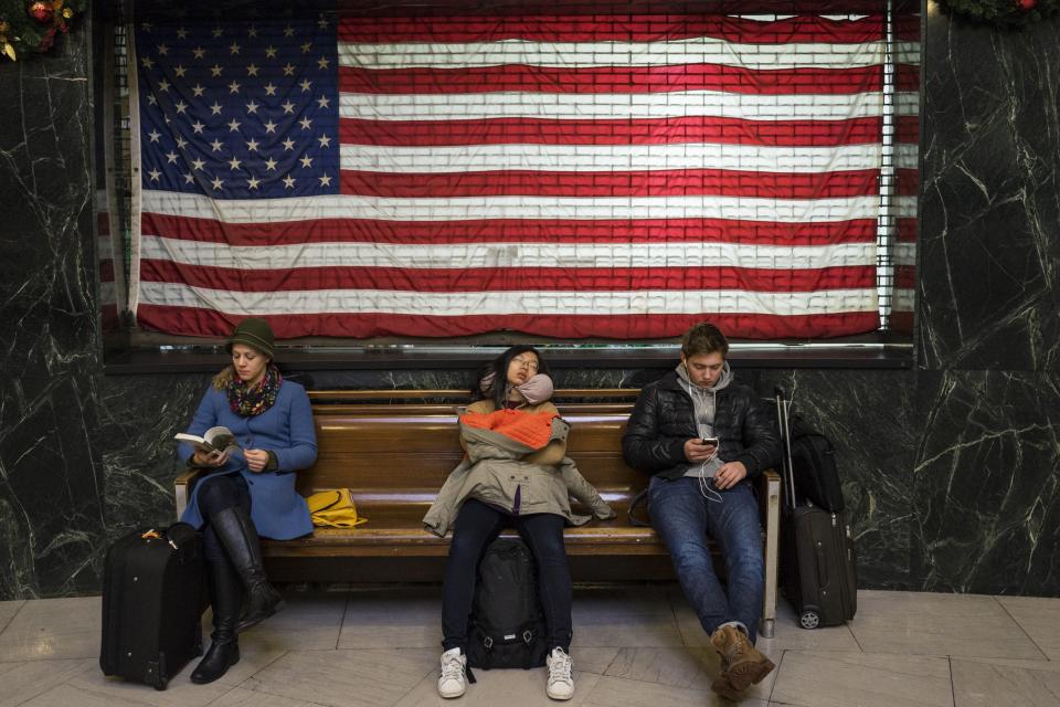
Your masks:
M708 500L699 490L699 479L690 476L674 481L654 476L648 511L703 631L710 635L722 624L740 622L753 643L765 593L759 504L748 482L719 494L721 503ZM721 547L728 591L714 573L707 536Z

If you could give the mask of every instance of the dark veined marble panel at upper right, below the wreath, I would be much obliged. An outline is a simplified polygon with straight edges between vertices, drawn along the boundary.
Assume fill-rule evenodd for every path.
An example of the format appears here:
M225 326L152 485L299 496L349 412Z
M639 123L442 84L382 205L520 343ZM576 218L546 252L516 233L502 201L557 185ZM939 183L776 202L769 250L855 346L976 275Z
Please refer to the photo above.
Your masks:
M1060 367L1060 20L923 38L920 365Z

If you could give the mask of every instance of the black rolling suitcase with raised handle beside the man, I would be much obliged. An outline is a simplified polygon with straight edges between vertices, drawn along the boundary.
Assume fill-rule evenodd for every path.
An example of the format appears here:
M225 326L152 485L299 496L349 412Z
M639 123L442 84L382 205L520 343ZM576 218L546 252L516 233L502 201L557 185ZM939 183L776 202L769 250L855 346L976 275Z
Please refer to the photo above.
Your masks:
M796 493L788 402L775 389L784 471L781 584L804 629L834 626L857 611L857 555L842 510L826 510ZM829 446L830 449L830 446ZM831 467L831 473L835 466ZM815 473L828 473L828 468ZM827 485L838 487L838 478Z

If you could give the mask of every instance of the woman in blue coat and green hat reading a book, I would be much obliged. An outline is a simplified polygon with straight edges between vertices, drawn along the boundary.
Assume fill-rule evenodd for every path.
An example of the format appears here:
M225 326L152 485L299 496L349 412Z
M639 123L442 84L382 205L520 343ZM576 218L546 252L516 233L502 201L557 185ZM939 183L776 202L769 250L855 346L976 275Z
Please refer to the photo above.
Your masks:
M264 319L235 327L227 341L232 363L214 376L188 429L204 442L180 445L189 466L209 469L180 518L203 530L213 603L212 644L191 674L194 683L224 675L240 659L236 634L279 608L258 535L287 540L312 532L293 474L317 458L312 411L305 389L273 363L273 341Z

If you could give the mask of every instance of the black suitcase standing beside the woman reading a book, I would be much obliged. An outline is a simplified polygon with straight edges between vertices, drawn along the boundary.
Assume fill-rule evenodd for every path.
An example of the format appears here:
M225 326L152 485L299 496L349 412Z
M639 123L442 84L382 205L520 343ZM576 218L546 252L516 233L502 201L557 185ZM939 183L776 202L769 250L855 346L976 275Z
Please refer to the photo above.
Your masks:
M191 526L138 530L107 550L103 579L104 675L166 689L202 655L202 540Z

